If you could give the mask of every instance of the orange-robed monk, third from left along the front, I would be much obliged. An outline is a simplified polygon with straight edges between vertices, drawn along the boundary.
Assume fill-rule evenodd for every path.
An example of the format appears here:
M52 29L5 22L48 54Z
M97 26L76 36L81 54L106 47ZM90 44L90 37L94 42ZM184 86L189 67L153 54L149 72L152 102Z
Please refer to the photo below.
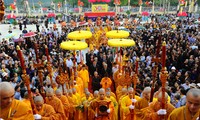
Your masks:
M54 96L54 90L52 88L46 90L46 104L49 104L54 108L57 118L60 120L66 119L64 106L61 100Z

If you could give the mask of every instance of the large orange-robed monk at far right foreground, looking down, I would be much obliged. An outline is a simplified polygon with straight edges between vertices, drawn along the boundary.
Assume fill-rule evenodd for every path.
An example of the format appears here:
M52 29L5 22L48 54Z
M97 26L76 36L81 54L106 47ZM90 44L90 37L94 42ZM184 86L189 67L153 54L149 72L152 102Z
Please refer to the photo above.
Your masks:
M186 105L175 109L168 120L200 120L200 89L190 89L186 99Z

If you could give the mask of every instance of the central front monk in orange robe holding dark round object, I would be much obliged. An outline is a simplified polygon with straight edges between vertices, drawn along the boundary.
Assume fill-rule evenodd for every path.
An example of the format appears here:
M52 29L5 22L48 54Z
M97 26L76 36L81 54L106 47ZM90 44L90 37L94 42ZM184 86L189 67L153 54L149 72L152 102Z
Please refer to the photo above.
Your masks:
M99 90L99 98L91 103L91 108L95 113L95 120L112 120L114 105L112 101L105 96L105 90Z

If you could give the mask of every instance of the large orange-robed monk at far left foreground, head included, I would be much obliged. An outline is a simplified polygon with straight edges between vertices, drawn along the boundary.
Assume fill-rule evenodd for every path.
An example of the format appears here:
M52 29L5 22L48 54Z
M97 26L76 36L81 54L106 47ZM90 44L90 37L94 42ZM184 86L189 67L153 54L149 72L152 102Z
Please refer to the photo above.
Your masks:
M14 88L9 82L0 83L0 118L5 120L34 120L30 107L14 99Z

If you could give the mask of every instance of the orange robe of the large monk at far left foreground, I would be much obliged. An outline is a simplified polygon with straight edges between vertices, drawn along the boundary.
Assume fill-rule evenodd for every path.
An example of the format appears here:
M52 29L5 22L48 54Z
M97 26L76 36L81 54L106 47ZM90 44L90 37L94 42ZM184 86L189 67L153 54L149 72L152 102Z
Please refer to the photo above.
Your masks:
M32 110L19 100L13 100L11 105L0 109L0 118L5 120L34 120Z

